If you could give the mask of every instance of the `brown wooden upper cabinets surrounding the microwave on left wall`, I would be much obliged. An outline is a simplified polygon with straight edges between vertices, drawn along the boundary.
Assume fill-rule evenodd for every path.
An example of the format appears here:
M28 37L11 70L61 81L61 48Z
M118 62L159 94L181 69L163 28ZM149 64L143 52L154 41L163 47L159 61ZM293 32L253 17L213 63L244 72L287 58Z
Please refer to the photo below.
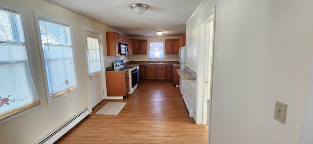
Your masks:
M120 50L118 43L124 42L128 45L128 53L132 54L133 49L133 40L127 36L115 33L115 32L106 32L107 39L107 54L108 56L118 56L120 55Z

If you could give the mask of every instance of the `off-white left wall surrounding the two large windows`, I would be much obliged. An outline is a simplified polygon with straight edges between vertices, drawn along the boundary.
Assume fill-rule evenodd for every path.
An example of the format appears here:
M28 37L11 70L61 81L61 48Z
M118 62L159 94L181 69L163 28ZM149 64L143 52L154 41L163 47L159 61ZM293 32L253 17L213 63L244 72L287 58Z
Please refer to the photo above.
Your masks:
M40 108L29 112L17 119L0 125L1 144L34 144L46 134L63 124L77 112L89 107L87 60L84 47L83 27L96 31L114 32L113 29L64 9L60 6L49 3L45 0L2 0L8 4L24 9L27 38L30 42L31 60L34 67L35 86L41 102ZM57 100L49 105L46 103L43 71L41 67L40 51L35 28L34 13L66 20L72 24L73 47L77 70L78 90L71 92L66 97ZM116 31L115 31L116 32ZM104 41L106 55L106 42Z

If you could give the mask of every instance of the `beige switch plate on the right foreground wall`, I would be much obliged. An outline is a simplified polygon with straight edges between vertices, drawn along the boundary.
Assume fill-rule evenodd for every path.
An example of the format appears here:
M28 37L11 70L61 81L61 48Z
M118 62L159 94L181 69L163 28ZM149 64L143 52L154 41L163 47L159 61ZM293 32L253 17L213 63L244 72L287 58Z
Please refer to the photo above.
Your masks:
M276 101L274 118L283 124L286 124L287 104Z

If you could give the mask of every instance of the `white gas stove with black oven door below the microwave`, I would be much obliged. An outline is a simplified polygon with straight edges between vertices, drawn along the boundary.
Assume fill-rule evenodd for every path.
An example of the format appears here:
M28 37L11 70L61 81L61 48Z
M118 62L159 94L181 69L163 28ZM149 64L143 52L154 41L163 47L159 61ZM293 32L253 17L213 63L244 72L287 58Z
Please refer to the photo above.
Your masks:
M125 66L124 67L123 60L120 60L120 61L113 62L113 68L115 70L121 70L121 69L128 70L129 88L130 88L128 94L133 94L134 91L137 89L138 82L139 82L139 66L136 66L136 67Z

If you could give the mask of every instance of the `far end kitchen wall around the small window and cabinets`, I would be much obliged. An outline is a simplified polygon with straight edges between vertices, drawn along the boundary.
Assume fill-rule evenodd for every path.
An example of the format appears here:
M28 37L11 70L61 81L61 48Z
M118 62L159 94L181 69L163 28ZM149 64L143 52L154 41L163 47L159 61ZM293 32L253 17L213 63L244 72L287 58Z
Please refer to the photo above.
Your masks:
M131 55L131 61L154 61L155 59L149 59L150 42L163 42L165 47L165 39L178 39L180 37L181 36L132 36L132 39L147 39L148 54L133 54ZM165 58L162 59L162 61L178 61L178 54L165 54Z

